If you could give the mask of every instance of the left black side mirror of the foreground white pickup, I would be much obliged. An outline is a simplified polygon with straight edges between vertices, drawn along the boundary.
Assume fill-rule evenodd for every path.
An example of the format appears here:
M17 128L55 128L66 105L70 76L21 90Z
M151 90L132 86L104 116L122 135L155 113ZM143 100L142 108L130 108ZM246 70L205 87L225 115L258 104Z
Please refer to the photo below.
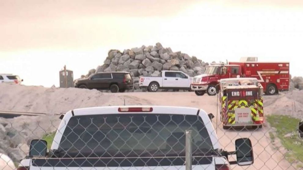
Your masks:
M29 156L45 157L47 142L45 140L35 139L31 141Z

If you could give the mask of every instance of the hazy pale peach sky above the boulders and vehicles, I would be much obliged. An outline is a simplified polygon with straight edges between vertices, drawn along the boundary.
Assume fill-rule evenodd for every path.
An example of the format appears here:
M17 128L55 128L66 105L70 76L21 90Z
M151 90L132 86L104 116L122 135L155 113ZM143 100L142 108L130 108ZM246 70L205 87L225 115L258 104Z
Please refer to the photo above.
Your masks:
M303 76L302 0L1 0L0 73L59 85L102 65L108 50L155 45L206 62L289 61ZM300 64L299 64L300 63Z

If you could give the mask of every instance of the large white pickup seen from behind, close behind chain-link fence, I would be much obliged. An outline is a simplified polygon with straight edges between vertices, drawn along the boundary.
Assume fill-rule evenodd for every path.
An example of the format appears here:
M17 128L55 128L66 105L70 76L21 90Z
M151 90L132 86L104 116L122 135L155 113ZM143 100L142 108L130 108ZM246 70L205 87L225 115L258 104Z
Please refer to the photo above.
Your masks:
M32 140L18 170L185 170L185 130L192 130L193 170L253 164L250 140L237 139L233 152L222 150L209 116L198 108L168 106L71 110L60 116L49 152L46 141ZM228 161L231 154L237 161Z

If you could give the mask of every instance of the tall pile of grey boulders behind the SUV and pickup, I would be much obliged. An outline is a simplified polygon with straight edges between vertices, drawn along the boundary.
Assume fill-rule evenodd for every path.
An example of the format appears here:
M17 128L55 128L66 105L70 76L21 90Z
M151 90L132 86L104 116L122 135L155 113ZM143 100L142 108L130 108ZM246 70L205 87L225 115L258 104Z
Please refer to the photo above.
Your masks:
M134 90L139 89L139 76L160 76L162 70L180 70L189 76L203 74L208 63L190 57L181 51L173 52L170 48L164 48L160 43L155 46L142 46L141 48L110 50L108 57L102 66L89 70L95 72L127 71L133 77Z

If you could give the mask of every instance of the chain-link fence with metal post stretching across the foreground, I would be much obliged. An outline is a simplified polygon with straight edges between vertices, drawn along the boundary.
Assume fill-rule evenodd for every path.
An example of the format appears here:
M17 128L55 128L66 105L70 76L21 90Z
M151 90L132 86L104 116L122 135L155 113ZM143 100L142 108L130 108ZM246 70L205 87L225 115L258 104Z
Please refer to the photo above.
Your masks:
M223 129L199 112L1 119L0 169L303 169L298 119Z

